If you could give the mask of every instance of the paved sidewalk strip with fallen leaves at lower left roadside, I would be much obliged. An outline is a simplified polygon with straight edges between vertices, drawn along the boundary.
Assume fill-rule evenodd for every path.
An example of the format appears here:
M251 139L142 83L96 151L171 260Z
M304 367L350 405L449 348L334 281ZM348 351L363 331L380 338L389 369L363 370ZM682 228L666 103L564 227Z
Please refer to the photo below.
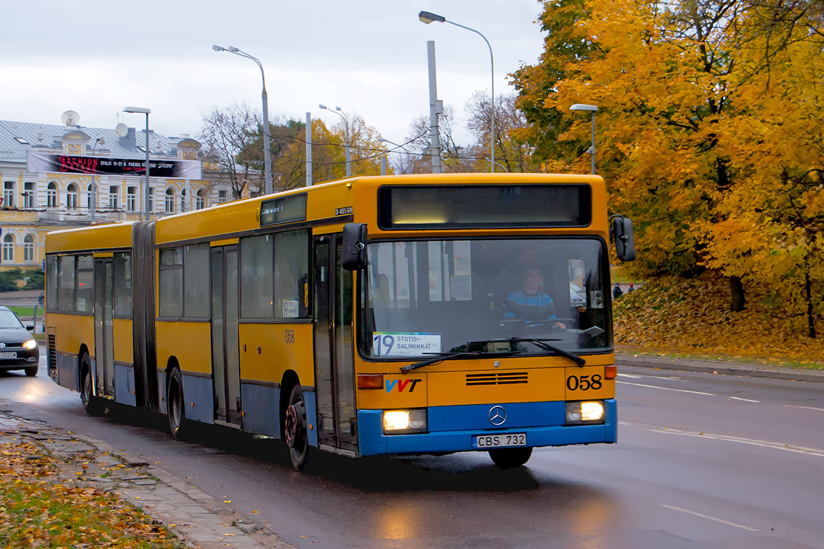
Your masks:
M0 412L0 441L14 438L30 439L59 457L60 482L113 491L165 523L193 549L294 549L185 480L100 440Z

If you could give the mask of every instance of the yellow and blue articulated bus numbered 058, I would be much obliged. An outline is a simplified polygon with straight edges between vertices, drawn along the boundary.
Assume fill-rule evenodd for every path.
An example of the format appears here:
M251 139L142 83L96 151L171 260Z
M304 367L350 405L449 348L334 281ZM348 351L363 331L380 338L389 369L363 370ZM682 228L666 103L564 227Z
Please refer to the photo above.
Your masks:
M357 177L46 238L49 375L348 456L616 441L610 242L594 175Z

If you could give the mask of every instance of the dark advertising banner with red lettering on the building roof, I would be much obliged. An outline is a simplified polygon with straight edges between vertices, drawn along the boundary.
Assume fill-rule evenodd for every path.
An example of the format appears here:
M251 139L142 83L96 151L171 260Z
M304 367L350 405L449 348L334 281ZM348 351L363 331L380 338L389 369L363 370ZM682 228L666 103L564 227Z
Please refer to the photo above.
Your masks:
M49 155L28 151L26 170L52 174L145 175L146 161L133 158ZM149 177L203 179L200 161L149 159Z

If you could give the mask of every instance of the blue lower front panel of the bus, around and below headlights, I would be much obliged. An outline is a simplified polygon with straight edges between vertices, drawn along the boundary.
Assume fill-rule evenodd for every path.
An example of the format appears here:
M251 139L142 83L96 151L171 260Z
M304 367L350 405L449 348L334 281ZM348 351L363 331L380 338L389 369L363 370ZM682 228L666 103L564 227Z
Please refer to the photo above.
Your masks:
M492 407L489 404L430 407L427 414L429 432L414 435L384 435L382 410L361 410L358 412L360 454L471 451L477 450L472 445L475 435L508 433L526 433L527 446L535 447L617 441L617 404L614 399L604 401L606 416L602 425L564 426L564 402L515 402L502 406L507 412L506 428L489 429L489 409Z

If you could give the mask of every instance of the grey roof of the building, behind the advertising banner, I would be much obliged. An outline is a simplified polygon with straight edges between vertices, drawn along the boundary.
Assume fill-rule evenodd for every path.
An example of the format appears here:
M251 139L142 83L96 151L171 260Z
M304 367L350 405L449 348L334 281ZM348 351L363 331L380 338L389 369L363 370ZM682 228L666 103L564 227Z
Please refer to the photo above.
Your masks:
M0 162L25 162L28 151L40 149L44 153L54 150L63 152L62 140L68 133L80 131L90 137L88 146L96 156L143 159L146 157L146 130L129 128L125 137L114 128L86 128L79 125L43 124L0 120ZM98 138L102 142L96 142ZM191 137L166 137L149 131L151 156L177 156L177 144ZM192 140L194 141L194 140ZM197 142L195 142L197 143ZM96 145L95 145L96 144ZM199 145L199 143L198 143ZM140 148L138 148L140 147ZM199 148L199 147L196 147Z

